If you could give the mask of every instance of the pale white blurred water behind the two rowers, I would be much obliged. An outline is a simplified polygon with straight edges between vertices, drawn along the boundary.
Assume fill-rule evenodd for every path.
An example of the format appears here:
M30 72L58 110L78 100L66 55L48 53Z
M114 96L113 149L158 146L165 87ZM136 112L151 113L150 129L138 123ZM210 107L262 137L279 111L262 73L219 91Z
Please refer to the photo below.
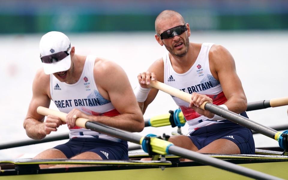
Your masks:
M41 67L39 59L40 34L0 36L0 143L28 139L23 128L32 97L32 81ZM76 53L94 54L115 61L128 74L132 87L138 83L137 74L165 53L153 32L111 34L68 34ZM248 102L285 97L288 85L288 32L193 32L190 41L213 42L226 47L233 55L238 76L242 81ZM56 109L51 104L52 109ZM165 93L158 93L148 107L144 118L166 114L176 104ZM288 123L287 106L247 113L250 119L265 126ZM187 132L187 126L183 128ZM62 126L52 135L67 132ZM145 128L149 133L171 134L176 128ZM256 147L277 146L277 142L263 135L254 135ZM66 140L0 150L0 158L33 157L39 152L64 143Z

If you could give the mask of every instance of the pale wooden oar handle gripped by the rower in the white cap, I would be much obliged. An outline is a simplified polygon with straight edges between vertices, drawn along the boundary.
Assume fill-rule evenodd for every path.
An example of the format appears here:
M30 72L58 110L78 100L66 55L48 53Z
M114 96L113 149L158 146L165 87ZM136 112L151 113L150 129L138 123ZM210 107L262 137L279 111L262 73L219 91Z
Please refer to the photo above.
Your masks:
M55 111L55 110L51 110L49 108L46 108L46 107L42 107L42 106L39 106L37 108L37 113L38 114L41 114L43 116L48 116L48 115L52 115L52 116L57 116L61 119L61 121L63 122L66 122L66 116L67 116L67 113L63 113L63 112L60 112L60 111ZM85 118L77 118L76 119L76 126L78 127L81 127L81 128L86 128L85 127L85 124L86 122L89 121L89 119L85 119ZM87 129L87 128L86 128Z

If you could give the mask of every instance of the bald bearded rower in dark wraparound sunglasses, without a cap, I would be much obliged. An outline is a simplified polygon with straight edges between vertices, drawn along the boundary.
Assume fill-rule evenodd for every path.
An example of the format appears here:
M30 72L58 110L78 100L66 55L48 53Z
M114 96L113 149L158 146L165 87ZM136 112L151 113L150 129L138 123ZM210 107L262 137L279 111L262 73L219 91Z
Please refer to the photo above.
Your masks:
M254 154L249 129L199 108L208 101L247 117L246 96L229 51L212 43L190 43L189 24L173 10L157 16L155 30L156 41L168 52L138 75L134 93L143 113L158 93L149 86L150 80L164 82L192 95L190 103L172 96L189 125L189 135L173 136L170 142L201 153Z

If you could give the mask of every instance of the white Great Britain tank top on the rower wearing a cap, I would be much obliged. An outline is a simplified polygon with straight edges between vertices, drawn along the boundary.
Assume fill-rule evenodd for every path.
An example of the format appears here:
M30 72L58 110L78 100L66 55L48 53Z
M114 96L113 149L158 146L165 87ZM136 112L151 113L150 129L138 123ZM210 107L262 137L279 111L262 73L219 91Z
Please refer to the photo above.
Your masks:
M69 113L72 109L77 108L89 115L119 115L111 101L103 98L97 89L93 75L95 59L96 57L94 56L87 56L82 75L75 84L60 82L53 74L50 75L51 98L59 111ZM122 141L115 137L80 127L70 129L69 138L74 137L99 138L114 142Z

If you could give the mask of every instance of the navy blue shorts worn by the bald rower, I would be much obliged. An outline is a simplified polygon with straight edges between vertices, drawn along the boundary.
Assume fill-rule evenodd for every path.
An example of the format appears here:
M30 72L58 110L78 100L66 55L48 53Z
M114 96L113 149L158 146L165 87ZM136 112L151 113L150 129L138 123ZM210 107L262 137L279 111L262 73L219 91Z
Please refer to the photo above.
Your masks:
M241 115L247 117L246 112L241 113ZM221 122L223 123L199 128L188 137L199 150L215 140L227 139L239 147L241 154L255 154L255 144L250 129L229 120Z

